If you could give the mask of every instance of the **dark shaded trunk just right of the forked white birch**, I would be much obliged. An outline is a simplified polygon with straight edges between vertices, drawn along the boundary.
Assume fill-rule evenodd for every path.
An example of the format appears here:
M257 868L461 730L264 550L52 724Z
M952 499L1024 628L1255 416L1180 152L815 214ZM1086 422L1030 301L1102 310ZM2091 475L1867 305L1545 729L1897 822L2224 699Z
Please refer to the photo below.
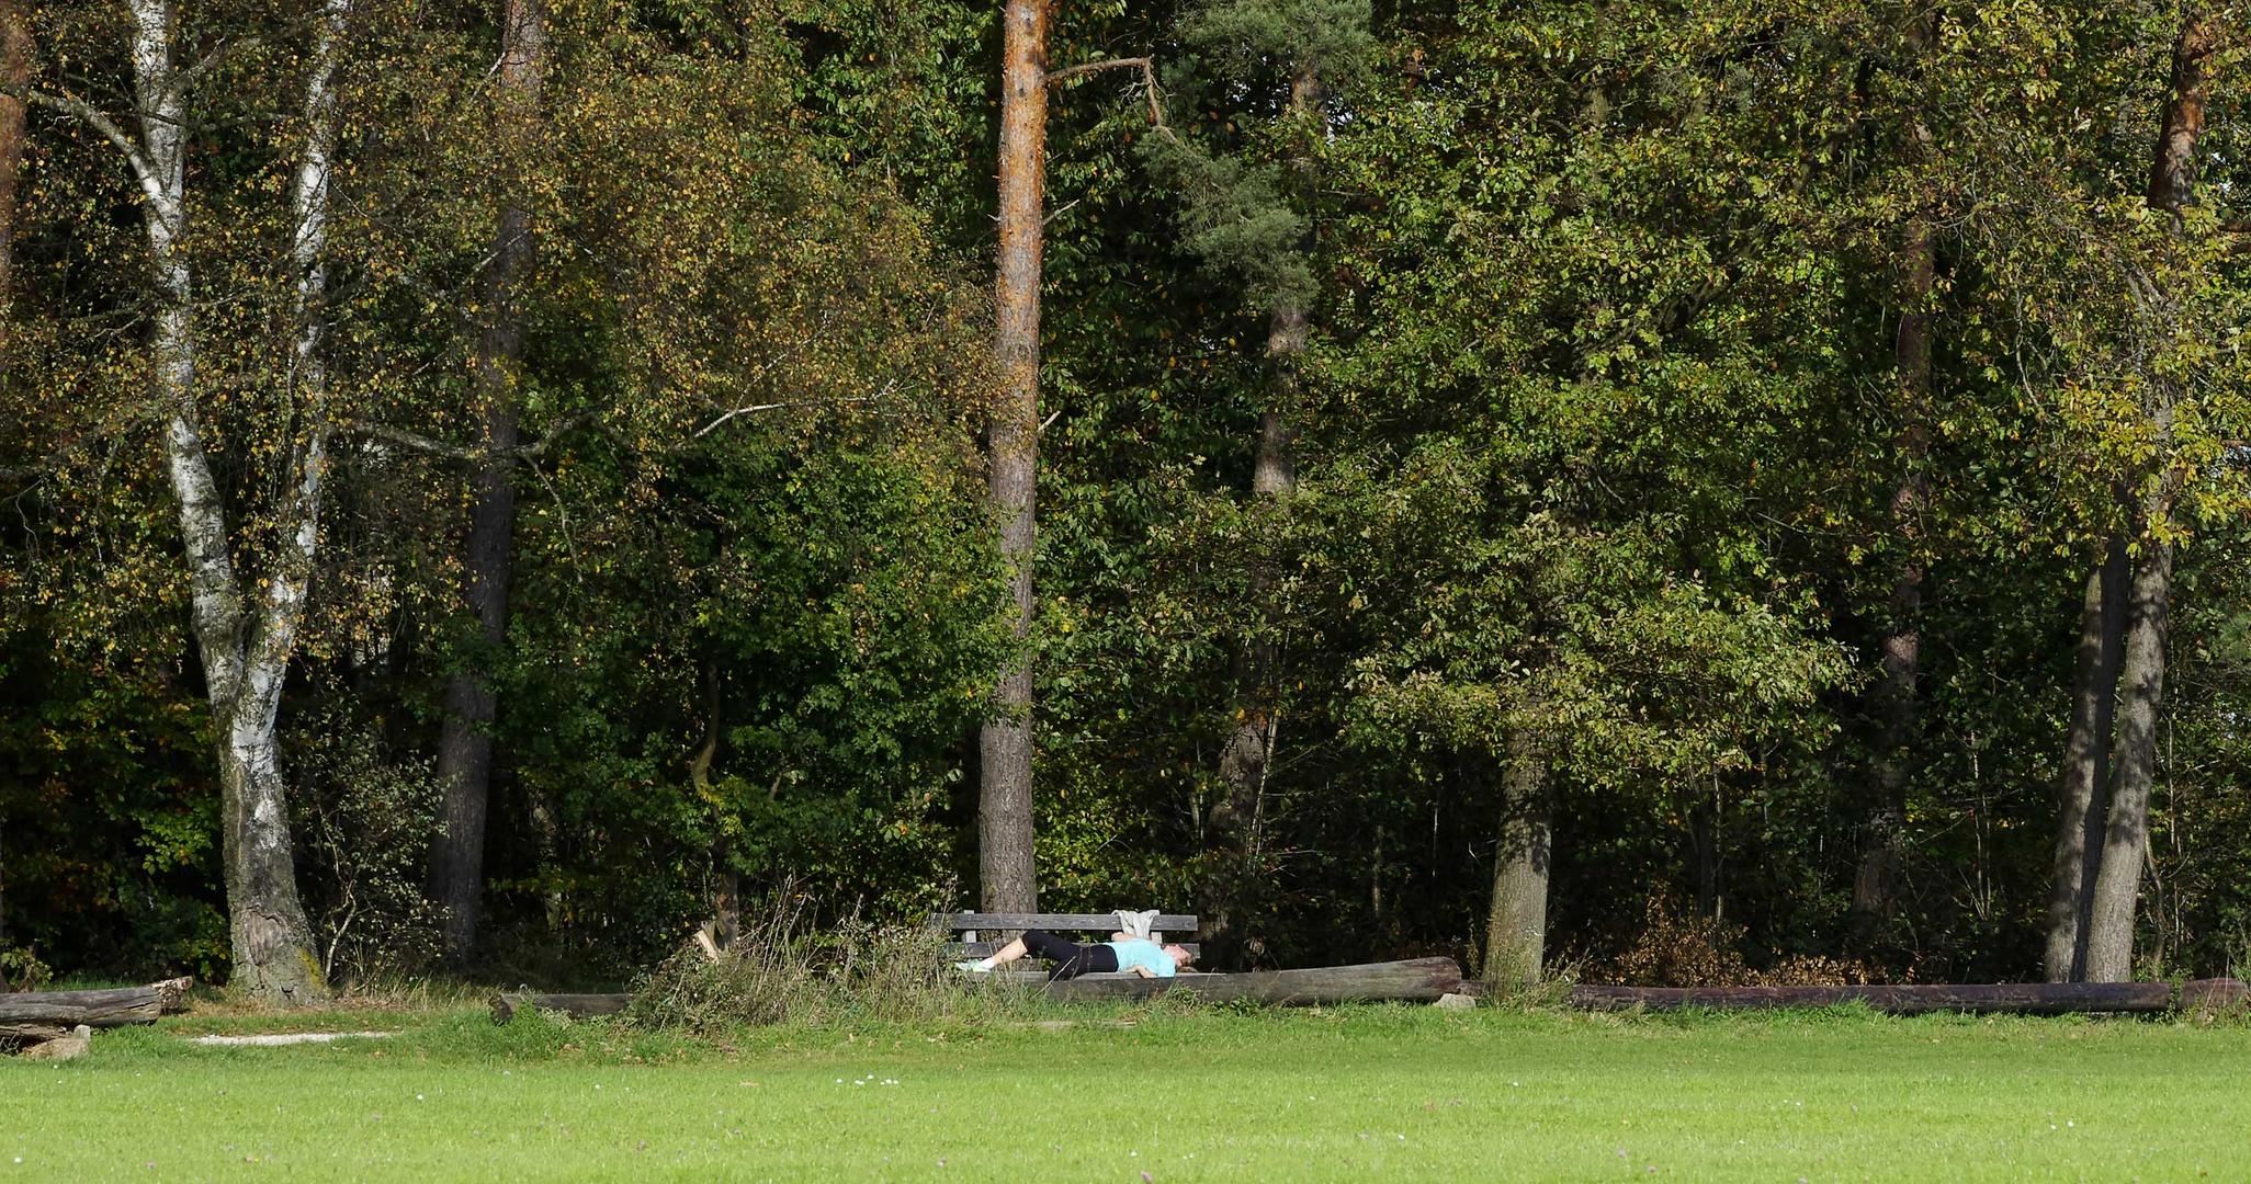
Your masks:
M506 0L500 43L500 106L511 133L529 135L547 68L547 16L540 0ZM509 569L515 538L515 360L522 315L515 286L531 261L524 207L509 196L484 272L484 326L477 333L482 448L470 475L468 542L461 556L468 610L477 619L473 660L446 680L446 720L437 774L446 786L446 831L430 860L432 896L446 905L446 961L464 966L477 945L484 903L484 828L493 790L491 660L509 637Z

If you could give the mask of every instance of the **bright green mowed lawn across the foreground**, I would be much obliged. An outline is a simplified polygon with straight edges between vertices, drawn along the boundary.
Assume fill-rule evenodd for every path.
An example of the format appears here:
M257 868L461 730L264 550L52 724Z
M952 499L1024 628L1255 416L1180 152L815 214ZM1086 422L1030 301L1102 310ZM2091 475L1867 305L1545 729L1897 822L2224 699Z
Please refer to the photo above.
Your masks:
M403 1029L212 1049L196 1031ZM2251 1179L2251 1029L1112 1013L732 1042L196 1020L0 1062L5 1179Z

